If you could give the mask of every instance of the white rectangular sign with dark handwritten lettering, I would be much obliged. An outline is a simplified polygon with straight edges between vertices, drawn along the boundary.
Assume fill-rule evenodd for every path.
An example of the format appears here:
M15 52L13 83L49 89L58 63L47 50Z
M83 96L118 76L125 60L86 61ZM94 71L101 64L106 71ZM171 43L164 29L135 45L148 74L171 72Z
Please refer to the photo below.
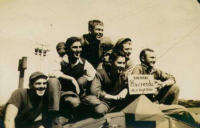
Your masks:
M129 94L154 94L153 75L128 75Z

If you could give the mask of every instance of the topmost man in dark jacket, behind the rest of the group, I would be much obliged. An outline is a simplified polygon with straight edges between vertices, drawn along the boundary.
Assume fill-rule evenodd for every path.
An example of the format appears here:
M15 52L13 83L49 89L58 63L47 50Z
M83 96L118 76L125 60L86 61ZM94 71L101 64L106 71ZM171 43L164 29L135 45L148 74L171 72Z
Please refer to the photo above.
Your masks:
M88 34L81 38L83 45L82 57L87 59L96 69L101 62L103 55L110 49L113 44L108 37L103 36L104 24L100 20L90 20L88 22Z

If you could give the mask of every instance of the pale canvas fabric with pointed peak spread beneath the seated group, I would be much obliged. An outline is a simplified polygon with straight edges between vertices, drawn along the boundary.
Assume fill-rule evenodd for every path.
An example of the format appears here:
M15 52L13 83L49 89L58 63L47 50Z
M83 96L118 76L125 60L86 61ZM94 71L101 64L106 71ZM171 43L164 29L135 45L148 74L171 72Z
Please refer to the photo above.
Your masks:
M175 113L175 109L181 112L183 109L181 106L160 106L163 110L167 111L169 107L169 113ZM102 118L94 119L88 118L73 124L67 124L65 128L93 128L103 127L106 122L109 122L112 126L120 126L121 128L193 128L194 125L188 125L188 123L181 120L177 120L173 117L165 115L160 109L159 105L152 103L147 97L141 95L134 102L129 104L122 112L108 113ZM168 112L168 111L167 111ZM126 124L125 124L126 123ZM198 126L198 125L196 125Z

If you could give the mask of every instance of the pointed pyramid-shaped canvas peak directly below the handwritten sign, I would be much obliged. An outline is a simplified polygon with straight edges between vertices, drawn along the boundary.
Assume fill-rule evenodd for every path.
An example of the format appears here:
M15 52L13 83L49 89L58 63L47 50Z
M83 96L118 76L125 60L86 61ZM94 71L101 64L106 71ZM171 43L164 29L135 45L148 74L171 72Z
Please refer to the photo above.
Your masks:
M122 110L125 115L133 114L135 127L143 127L144 121L155 122L156 128L173 128L170 127L170 118L167 117L156 104L153 104L146 96L141 95L134 102L129 104L125 109ZM127 119L131 120L131 119ZM141 122L141 123L140 123ZM129 121L130 123L130 121ZM139 124L138 124L139 123ZM153 125L152 125L153 126ZM150 126L148 126L150 127Z

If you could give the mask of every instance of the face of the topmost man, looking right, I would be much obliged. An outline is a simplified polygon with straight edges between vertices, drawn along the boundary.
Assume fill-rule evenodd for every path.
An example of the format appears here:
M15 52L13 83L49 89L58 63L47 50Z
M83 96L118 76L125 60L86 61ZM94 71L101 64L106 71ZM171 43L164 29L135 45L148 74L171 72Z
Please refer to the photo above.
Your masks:
M93 31L91 32L97 40L101 40L103 37L103 25L95 25Z

